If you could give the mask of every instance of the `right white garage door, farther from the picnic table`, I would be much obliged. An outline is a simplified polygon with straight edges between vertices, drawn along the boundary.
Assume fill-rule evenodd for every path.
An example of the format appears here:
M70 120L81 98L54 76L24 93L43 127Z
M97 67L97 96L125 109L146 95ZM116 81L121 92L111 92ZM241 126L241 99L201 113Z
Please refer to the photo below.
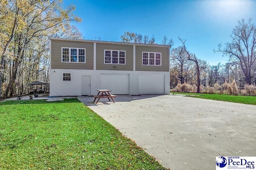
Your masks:
M164 75L140 74L139 94L164 94Z

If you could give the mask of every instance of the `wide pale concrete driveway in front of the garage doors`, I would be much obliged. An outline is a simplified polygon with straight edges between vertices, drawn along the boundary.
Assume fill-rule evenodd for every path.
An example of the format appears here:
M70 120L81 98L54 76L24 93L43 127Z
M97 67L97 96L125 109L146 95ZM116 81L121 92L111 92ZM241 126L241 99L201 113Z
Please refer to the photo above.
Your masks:
M256 156L256 106L168 95L78 99L171 170L215 170L216 156Z

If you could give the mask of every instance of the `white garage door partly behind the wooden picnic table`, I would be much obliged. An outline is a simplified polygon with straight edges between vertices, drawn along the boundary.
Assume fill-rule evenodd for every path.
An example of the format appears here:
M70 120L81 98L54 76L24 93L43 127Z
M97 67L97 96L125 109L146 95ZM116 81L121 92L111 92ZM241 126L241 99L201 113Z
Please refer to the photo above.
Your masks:
M129 94L129 74L100 74L100 88L111 94Z

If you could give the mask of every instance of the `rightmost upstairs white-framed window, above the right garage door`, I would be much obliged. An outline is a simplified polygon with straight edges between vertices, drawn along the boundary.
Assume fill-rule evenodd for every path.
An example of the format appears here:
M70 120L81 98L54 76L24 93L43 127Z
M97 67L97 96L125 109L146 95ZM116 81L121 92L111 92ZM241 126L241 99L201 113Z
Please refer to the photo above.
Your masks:
M161 66L162 53L142 52L142 65Z

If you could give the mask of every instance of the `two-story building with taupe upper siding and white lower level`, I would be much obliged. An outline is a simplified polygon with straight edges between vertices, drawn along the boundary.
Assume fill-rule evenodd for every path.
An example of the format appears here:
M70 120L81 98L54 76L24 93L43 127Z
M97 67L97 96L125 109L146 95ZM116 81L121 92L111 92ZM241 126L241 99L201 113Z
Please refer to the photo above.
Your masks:
M50 38L50 96L169 94L170 46Z

